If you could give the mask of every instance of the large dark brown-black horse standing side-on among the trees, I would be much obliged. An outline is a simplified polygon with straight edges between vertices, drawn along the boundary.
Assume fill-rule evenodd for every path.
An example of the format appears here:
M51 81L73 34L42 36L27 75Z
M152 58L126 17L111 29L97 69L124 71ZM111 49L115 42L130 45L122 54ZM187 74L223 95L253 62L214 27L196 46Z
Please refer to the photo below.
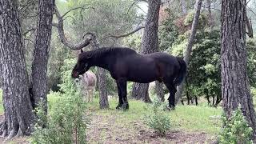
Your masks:
M78 62L72 71L72 77L78 78L91 66L109 70L118 85L119 102L117 109L128 109L127 81L148 83L164 82L170 91L169 106L175 106L176 86L186 76L186 62L182 58L166 53L138 54L130 48L103 47L78 55Z

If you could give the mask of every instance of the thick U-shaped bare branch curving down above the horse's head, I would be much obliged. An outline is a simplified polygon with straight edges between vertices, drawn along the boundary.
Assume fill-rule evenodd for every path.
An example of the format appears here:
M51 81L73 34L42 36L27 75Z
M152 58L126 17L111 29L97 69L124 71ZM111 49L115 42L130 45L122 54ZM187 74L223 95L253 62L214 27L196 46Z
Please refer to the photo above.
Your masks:
M81 8L81 7L80 7ZM53 23L53 26L56 26L58 29L58 35L61 39L61 42L65 45L68 46L70 49L72 50L81 50L83 47L86 47L90 44L90 40L91 38L84 38L82 40L82 42L78 42L78 43L72 43L69 42L67 40L67 38L65 37L65 33L64 33L64 28L63 28L63 16L65 16L67 13L65 13L63 16L59 13L57 6L54 7L55 9L55 15L58 18L58 23ZM72 9L72 10L76 10L76 9ZM69 10L70 12L71 10Z

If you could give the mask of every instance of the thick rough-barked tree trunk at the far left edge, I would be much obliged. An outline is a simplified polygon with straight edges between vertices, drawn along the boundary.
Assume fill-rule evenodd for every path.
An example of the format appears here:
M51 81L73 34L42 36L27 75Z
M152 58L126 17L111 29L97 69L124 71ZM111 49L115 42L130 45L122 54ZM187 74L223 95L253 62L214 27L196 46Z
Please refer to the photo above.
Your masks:
M0 0L0 70L5 120L0 134L28 135L34 127L34 113L28 89L22 32L17 2Z

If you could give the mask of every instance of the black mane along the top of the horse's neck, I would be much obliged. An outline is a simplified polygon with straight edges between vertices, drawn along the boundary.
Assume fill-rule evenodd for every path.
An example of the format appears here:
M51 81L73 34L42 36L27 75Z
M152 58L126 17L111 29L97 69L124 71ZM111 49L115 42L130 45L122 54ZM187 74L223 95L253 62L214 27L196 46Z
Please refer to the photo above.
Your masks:
M132 50L127 47L102 47L97 50L86 51L82 54L82 57L101 57L105 54L115 54L115 55L123 55L123 54L136 54L135 50Z

